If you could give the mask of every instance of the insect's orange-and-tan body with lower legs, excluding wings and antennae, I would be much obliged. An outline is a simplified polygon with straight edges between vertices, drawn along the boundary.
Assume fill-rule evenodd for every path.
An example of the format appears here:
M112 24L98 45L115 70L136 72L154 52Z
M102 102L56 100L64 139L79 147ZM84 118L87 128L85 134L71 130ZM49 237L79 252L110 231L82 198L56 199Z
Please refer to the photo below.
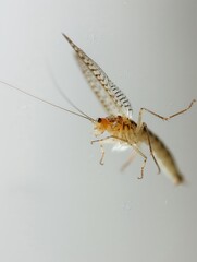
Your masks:
M96 134L101 134L107 131L107 133L110 135L94 142L104 143L110 141L112 143L120 143L121 145L133 147L134 151L144 158L141 175L138 178L143 178L144 168L147 160L146 155L140 151L139 147L141 143L145 143L150 148L151 156L158 167L158 172L160 172L161 166L162 169L171 176L174 183L183 182L183 176L181 175L172 154L163 144L163 142L155 133L148 130L146 124L143 124L141 129L137 128L138 127L134 121L121 116L116 118L100 118L99 122L95 126ZM100 146L102 148L102 144L100 144ZM104 152L102 150L101 164ZM127 164L130 164L130 162Z

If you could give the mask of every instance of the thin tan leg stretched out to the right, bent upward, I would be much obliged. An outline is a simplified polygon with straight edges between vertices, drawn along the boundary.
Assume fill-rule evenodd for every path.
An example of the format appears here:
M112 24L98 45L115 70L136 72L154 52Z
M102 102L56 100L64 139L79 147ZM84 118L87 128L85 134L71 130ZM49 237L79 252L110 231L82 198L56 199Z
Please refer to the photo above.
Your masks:
M147 112L149 112L149 114L151 114L151 115L153 115L153 116L156 116L156 117L158 117L158 118L161 118L162 120L165 120L165 121L167 121L167 120L169 120L169 119L171 119L171 118L173 118L173 117L176 117L176 116L178 116L178 115L181 115L181 114L184 114L184 112L186 112L187 110L189 110L190 107L194 105L195 102L196 102L196 99L193 99L188 107L186 107L185 109L183 109L183 110L181 110L181 111L177 111L177 112L175 112L175 114L173 114L173 115L171 115L171 116L169 116L169 117L162 117L161 115L158 115L158 114L156 114L156 112L153 112L153 111L151 111L151 110L149 110L149 109L147 109L147 108L140 108L140 110L139 110L139 116L138 116L137 127L139 127L138 129L140 129L140 127L141 127L141 124L143 124L143 112L144 112L144 111L147 111Z

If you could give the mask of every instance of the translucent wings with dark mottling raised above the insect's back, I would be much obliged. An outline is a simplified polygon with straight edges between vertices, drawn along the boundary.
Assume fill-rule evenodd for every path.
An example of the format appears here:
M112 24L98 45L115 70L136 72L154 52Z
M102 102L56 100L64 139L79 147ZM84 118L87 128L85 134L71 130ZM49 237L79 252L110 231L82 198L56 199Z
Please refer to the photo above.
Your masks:
M77 61L86 76L91 90L109 115L132 116L132 106L123 92L113 84L103 70L79 49L66 35L65 39L76 51Z

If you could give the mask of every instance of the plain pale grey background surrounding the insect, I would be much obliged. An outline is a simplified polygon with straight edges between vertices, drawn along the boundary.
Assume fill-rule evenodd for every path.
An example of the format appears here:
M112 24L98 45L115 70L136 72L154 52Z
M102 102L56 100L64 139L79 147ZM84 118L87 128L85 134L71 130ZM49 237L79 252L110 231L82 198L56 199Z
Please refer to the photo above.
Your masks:
M131 98L168 116L197 98L194 0L1 0L0 80L94 118L104 111L79 72L67 34ZM86 120L0 84L0 261L195 262L197 105L169 122L145 116L187 183L150 159L143 181L130 152L90 145Z

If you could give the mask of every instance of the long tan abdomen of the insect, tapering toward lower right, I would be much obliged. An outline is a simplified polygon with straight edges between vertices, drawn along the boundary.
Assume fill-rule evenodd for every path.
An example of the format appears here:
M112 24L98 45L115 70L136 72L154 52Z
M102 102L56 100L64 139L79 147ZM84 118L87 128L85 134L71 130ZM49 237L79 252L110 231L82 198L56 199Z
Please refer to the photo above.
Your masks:
M144 133L144 142L148 144L147 134ZM174 183L182 183L184 178L181 175L172 153L164 143L151 131L149 131L151 147L161 169L168 174Z

